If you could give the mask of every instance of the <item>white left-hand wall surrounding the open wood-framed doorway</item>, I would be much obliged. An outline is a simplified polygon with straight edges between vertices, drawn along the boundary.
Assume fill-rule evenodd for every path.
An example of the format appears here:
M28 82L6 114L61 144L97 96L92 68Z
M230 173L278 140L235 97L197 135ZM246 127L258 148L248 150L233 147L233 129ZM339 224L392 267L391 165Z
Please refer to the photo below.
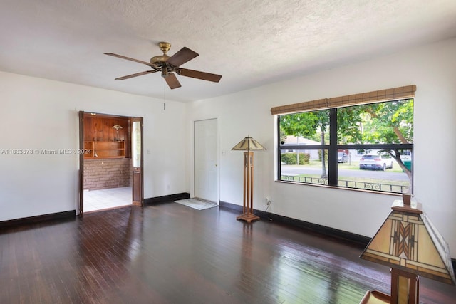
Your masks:
M0 221L77 210L78 111L144 117L144 196L189 192L185 104L0 72ZM150 152L150 153L147 153Z

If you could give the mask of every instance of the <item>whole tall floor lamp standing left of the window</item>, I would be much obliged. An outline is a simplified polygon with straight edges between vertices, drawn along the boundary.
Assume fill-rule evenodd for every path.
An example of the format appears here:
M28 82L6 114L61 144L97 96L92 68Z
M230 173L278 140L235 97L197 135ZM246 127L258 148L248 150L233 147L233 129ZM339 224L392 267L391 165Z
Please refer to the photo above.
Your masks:
M254 150L266 150L257 140L252 137L245 137L232 150L244 151L244 199L242 205L242 214L236 219L247 221L257 221L259 216L254 215L253 197L254 197Z

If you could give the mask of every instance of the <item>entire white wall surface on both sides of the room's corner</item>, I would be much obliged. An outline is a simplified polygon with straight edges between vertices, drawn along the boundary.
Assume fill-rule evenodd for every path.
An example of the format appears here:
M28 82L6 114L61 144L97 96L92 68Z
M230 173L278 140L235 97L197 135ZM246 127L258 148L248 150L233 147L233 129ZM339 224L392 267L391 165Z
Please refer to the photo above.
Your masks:
M210 100L168 101L165 111L154 98L0 72L0 221L77 208L76 155L1 152L76 149L77 112L86 110L144 117L146 198L193 191L193 122L217 118L221 201L242 204L242 152L231 148L251 135L268 149L255 152L256 209L268 196L275 214L373 236L395 196L274 182L270 108L415 84L414 194L456 258L455 53L452 39Z

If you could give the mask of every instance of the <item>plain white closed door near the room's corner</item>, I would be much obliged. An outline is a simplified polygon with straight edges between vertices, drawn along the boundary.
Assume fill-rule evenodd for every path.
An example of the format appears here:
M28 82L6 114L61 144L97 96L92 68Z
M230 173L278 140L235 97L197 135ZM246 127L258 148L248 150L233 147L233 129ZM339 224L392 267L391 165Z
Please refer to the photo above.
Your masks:
M219 202L217 119L195 121L195 197Z

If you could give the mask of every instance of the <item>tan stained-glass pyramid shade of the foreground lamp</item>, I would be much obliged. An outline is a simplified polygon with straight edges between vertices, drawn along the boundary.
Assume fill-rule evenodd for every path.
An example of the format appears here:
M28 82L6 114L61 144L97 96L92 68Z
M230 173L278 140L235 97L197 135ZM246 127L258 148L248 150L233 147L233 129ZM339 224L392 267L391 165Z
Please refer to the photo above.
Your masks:
M447 243L424 213L393 208L361 258L455 285L449 252Z

